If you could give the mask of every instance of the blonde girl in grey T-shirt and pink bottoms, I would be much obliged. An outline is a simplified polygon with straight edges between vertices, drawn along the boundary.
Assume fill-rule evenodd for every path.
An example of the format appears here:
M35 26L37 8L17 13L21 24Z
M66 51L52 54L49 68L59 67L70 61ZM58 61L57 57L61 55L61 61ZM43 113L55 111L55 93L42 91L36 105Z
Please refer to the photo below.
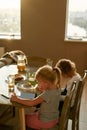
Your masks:
M38 83L37 87L41 92L39 96L34 99L20 99L16 95L11 97L11 102L21 103L26 106L40 104L37 112L25 116L28 127L40 130L41 128L51 128L58 122L58 106L61 95L60 77L59 68L45 65L39 68L35 74Z

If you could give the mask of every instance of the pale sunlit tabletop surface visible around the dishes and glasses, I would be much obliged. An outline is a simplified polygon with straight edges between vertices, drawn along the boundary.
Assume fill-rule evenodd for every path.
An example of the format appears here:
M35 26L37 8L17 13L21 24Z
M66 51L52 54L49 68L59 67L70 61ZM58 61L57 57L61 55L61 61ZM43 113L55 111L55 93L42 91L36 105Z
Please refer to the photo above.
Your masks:
M37 70L37 68L30 68L29 71L35 72L36 70ZM17 65L7 65L7 66L0 68L0 96L5 95L5 96L9 97L7 77L10 74L15 75L15 74L18 74L18 73L19 72L18 72L18 69L17 69ZM25 75L24 72L21 72L21 74L23 76ZM16 89L16 85L15 85L15 91L16 91L16 94L18 96L20 96L20 91ZM4 97L2 97L2 101L3 101L3 99L4 99ZM2 102L2 101L0 101L0 102ZM7 101L9 101L9 100L7 100Z

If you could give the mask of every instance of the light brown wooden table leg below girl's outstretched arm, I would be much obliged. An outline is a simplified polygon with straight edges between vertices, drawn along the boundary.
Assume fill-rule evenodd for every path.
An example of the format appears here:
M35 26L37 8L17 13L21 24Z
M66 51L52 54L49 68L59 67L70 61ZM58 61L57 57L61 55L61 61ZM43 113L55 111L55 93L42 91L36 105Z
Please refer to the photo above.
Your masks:
M19 116L20 116L20 130L26 130L24 108L19 108Z

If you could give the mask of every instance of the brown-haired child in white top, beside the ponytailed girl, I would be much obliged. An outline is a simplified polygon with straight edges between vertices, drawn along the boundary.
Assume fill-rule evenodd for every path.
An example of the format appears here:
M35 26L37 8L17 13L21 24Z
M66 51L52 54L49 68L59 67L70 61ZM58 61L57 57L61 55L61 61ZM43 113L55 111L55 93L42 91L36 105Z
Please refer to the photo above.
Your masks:
M71 102L71 107L74 106L77 86L81 79L81 76L77 72L76 64L69 59L60 59L56 63L56 67L60 68L60 70L61 70L61 83L60 84L61 84L61 88L63 88L61 91L62 100L60 101L60 104L59 104L59 111L60 111L60 115L61 115L65 97L66 97L66 95L68 95L70 93L72 83L74 81L76 81L75 93L73 95L72 102Z

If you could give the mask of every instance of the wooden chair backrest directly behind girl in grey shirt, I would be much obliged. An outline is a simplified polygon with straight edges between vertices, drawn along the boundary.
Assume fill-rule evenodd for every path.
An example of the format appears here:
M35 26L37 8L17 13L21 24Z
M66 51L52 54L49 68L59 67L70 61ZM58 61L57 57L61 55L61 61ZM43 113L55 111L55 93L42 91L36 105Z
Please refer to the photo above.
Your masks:
M72 97L75 91L75 86L76 86L76 82L73 82L69 95L65 97L61 117L59 120L58 130L67 130L70 106L71 106Z

